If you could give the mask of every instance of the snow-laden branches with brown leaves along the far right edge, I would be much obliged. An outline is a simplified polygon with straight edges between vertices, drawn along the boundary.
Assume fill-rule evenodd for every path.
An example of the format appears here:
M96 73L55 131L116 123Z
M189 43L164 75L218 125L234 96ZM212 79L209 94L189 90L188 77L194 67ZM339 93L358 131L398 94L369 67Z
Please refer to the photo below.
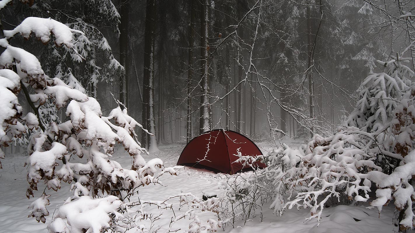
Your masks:
M404 63L409 63L410 58L403 54L410 47L391 56L388 62L377 61L379 64L389 66L389 74L395 79L409 80L415 76L414 72ZM409 81L407 81L409 83ZM400 158L391 159L387 153L383 153L383 163L389 166L383 173L371 172L371 179L376 183L376 199L372 206L381 211L383 205L393 201L395 213L393 221L399 226L400 232L406 232L413 228L415 214L413 212L414 192L414 145L415 145L415 83L411 83L403 90L398 106L393 111L389 127L384 130L383 147L392 155L400 155Z

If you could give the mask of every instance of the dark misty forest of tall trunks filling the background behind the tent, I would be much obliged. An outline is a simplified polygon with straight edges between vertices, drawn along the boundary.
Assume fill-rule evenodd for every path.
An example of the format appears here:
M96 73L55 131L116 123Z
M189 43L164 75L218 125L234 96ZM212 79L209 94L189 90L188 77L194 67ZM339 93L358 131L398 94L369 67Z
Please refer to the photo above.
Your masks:
M217 128L254 139L336 131L364 78L385 69L376 60L408 45L412 35L405 22L363 0L101 4L17 2L2 11L3 26L35 14L83 31L79 56L35 41L30 51L49 77L76 77L104 113L116 104L112 93L158 144ZM395 17L413 7L386 4ZM139 136L150 143L145 132Z

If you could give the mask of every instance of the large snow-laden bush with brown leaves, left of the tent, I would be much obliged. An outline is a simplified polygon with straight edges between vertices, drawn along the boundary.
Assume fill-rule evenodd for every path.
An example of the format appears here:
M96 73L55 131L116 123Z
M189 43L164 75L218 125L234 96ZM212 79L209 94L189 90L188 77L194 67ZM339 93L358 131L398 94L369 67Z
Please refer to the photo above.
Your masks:
M56 46L73 46L73 34L83 32L70 29L54 19L29 17L13 30L3 31L0 46L5 50L0 55L0 143L7 146L11 139L19 137L29 128L39 131L31 136L29 144L29 167L27 197L34 196L38 184L44 181L41 197L30 207L29 216L45 222L49 215L47 189L58 190L61 182L72 183L73 196L68 198L54 216L49 232L98 233L110 226L113 218L120 217L122 201L142 185L158 183L164 173L175 174L173 168L163 169L160 159L146 163L141 154L146 153L137 141L135 127L142 127L131 118L127 109L117 107L108 116L101 112L95 98L88 97L61 79L48 77L37 58L9 44L16 34L25 38L35 36L42 43L54 37ZM17 100L22 90L34 113L23 111ZM51 101L57 108L65 110L70 120L63 123L49 123L46 129L39 116L39 107ZM115 145L120 144L132 156L131 169L122 168L112 160ZM0 157L4 153L0 151ZM76 158L78 157L78 158ZM100 197L108 195L107 197ZM86 219L83 216L97 216ZM98 217L99 216L99 217Z

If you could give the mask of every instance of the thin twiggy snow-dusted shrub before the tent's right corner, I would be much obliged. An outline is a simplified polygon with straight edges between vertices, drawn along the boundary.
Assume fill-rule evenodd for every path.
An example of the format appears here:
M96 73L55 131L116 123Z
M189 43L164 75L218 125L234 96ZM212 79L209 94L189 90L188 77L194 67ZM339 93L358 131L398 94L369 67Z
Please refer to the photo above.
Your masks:
M247 221L259 217L262 221L263 205L271 201L274 195L273 187L281 185L279 179L273 179L300 162L304 156L304 147L291 149L286 144L281 148L275 148L265 156L242 156L236 154L239 159L235 162L244 164L244 167L253 168L253 173L237 173L221 183L225 191L220 198L220 211L223 223L233 227L238 221ZM267 165L259 169L253 164L257 161Z

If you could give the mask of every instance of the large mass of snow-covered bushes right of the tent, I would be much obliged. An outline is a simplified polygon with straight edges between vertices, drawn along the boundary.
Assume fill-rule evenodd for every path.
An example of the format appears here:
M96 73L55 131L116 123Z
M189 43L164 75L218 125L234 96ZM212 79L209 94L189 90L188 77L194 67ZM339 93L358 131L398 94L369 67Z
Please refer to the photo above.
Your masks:
M315 135L298 151L283 145L266 156L268 167L254 177L273 189L276 213L310 208L309 219L320 219L333 204L369 202L381 211L393 203L399 230L413 228L415 83L402 54L377 61L388 72L364 80L356 108L335 135Z

